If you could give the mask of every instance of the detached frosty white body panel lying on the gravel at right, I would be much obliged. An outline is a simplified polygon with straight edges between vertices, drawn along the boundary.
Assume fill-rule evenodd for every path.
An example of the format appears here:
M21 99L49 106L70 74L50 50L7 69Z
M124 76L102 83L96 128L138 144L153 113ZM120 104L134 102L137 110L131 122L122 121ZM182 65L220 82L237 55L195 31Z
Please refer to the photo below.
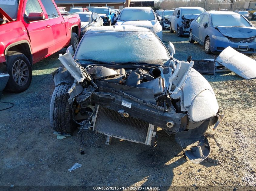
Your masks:
M256 78L256 61L230 46L220 53L216 61L244 79Z

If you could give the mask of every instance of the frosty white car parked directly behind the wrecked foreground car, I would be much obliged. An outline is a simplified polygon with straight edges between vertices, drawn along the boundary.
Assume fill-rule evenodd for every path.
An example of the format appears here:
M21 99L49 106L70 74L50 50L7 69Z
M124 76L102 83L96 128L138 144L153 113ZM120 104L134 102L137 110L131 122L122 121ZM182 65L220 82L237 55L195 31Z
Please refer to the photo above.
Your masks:
M115 25L133 25L150 28L162 40L162 26L150 7L126 7L120 13Z

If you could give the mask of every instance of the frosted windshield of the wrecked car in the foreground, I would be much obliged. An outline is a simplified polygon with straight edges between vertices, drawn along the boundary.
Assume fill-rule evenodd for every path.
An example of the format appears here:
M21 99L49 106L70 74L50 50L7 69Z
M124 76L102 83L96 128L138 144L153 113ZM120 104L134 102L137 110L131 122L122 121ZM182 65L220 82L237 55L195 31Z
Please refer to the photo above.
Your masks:
M75 59L82 63L91 63L82 59L92 59L108 63L146 62L163 65L170 60L165 46L153 32L89 33L79 44Z

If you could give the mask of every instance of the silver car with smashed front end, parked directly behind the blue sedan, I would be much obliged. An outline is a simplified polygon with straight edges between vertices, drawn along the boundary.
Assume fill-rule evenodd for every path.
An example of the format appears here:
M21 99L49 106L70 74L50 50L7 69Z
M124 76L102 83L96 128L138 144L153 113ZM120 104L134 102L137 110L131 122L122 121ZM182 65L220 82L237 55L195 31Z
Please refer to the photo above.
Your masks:
M176 8L171 17L170 33L175 31L178 37L188 35L191 22L203 12L205 12L205 9L201 7Z

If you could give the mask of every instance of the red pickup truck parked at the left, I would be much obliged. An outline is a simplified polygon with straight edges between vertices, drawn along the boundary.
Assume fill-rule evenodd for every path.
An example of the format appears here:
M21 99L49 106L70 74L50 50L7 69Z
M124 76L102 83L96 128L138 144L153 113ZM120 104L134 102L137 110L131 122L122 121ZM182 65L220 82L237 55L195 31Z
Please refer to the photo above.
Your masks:
M75 50L80 33L79 15L62 16L53 0L0 1L0 73L10 75L5 91L25 91L32 64L69 45Z

